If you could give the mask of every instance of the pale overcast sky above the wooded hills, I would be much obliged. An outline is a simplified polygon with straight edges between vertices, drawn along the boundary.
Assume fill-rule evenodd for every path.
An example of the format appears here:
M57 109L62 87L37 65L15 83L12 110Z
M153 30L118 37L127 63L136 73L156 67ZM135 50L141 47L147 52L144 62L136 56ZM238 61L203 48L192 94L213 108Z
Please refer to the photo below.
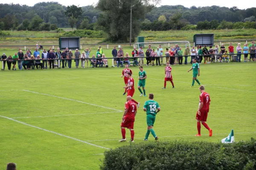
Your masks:
M98 0L82 0L82 1L72 1L72 0L51 0L58 2L60 4L63 4L64 6L70 6L70 5L76 5L76 6L87 6L87 5L92 5L96 4ZM89 1L89 2L88 2ZM19 3L21 5L27 5L27 6L34 6L35 3L39 2L47 2L47 0L10 0L10 1L5 1L5 0L0 0L0 3ZM198 3L200 2L200 3ZM209 3L210 2L210 3ZM232 2L232 3L231 3ZM185 7L191 7L191 6L226 6L226 7L233 7L237 6L239 9L246 9L246 8L251 8L251 7L256 7L256 0L250 0L250 1L244 1L246 3L243 3L242 0L212 0L212 1L196 1L196 0L176 0L176 1L171 1L171 0L162 0L161 5L183 5Z

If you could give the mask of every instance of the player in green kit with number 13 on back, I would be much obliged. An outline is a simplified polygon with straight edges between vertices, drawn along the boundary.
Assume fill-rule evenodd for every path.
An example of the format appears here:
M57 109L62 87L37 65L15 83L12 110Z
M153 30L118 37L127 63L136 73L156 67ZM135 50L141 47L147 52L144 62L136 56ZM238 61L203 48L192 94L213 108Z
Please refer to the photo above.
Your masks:
M154 136L155 140L158 140L156 133L153 130L154 122L156 119L156 115L160 112L160 106L156 101L154 101L154 94L149 94L149 100L145 102L143 111L147 113L147 124L148 124L148 131L146 133L144 141L148 140L148 136L151 134Z

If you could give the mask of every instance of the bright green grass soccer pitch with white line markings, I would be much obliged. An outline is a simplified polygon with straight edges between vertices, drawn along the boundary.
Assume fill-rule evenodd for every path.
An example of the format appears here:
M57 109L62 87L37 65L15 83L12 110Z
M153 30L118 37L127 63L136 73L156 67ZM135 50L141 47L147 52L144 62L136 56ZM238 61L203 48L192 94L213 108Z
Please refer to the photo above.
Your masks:
M73 65L74 66L74 65ZM7 66L6 66L7 67ZM191 65L172 66L175 89L162 89L164 66L144 67L146 94L153 93L161 112L154 130L160 141L220 142L234 129L235 141L256 137L256 62L212 63L200 66L198 77L211 96L207 123L195 137L200 91L192 82ZM139 68L131 67L135 79ZM104 151L129 143L120 123L126 96L122 68L0 71L0 169L15 162L22 170L97 170ZM138 109L135 144L143 142L147 125L143 103ZM130 133L126 130L126 138ZM150 136L148 142L154 142Z

